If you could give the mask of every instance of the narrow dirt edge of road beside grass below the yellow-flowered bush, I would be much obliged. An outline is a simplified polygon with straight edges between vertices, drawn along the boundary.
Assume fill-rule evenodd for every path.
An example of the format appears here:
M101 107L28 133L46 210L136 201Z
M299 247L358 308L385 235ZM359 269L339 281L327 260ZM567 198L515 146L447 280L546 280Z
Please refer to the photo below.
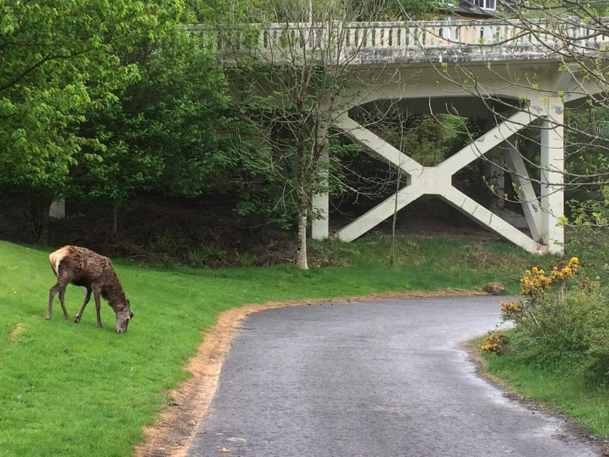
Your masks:
M557 411L553 411L545 406L538 405L533 399L521 397L520 395L516 394L509 383L489 373L487 371L487 362L480 356L478 350L474 347L476 341L477 338L463 342L462 349L465 350L471 363L473 363L476 367L476 375L479 378L484 379L499 389L505 398L518 402L525 408L530 409L532 414L539 412L541 414L545 414L546 416L555 417L556 419L560 420L564 423L565 429L569 432L569 434L576 436L580 442L588 442L597 445L601 455L609 457L609 442L605 441L604 439L595 438L590 434L590 432L586 431L585 428L566 414L558 413ZM557 438L561 437L559 436Z

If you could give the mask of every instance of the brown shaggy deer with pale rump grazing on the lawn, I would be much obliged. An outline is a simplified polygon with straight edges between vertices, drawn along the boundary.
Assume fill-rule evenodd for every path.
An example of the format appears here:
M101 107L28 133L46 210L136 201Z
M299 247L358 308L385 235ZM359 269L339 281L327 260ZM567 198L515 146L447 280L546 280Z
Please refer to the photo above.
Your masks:
M86 289L85 302L74 317L76 324L80 322L82 313L91 299L91 292L93 292L97 327L102 327L100 297L104 297L116 314L116 331L118 333L127 332L127 325L133 319L133 311L131 311L129 300L125 297L125 292L122 290L116 272L114 272L112 261L108 257L84 247L64 246L49 255L49 263L51 263L51 268L57 277L57 283L49 289L47 321L51 320L53 300L57 293L59 293L59 302L62 304L63 317L68 321L69 317L64 297L66 286L72 283Z

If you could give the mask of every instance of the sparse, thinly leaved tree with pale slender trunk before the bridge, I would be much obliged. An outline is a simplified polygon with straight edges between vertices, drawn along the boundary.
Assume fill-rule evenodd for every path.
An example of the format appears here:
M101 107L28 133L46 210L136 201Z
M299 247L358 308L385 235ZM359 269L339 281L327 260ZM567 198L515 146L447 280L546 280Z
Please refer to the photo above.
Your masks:
M308 267L306 230L315 217L312 197L337 181L336 175L328 177L333 158L327 146L336 135L331 126L356 104L345 91L357 78L350 68L357 49L343 52L348 24L379 18L388 4L240 2L231 8L228 24L217 24L220 54L231 84L239 88L243 113L270 145L269 166L281 182L280 204L294 208L295 262L303 269Z

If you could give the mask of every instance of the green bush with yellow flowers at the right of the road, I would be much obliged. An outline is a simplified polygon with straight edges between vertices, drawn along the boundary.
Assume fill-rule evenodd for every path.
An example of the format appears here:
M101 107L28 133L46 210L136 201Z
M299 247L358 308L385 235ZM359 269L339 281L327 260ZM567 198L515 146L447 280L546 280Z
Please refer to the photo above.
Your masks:
M578 275L576 257L546 273L533 268L521 279L524 295L502 303L514 331L507 343L493 333L482 349L498 355L510 351L530 364L571 367L594 385L608 386L609 296L599 277Z

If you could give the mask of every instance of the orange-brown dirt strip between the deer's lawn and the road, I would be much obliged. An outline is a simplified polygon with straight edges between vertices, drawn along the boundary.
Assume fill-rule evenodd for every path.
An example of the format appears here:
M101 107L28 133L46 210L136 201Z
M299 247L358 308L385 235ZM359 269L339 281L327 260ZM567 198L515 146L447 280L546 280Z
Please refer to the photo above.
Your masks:
M144 440L135 446L136 457L185 457L188 448L205 417L209 403L216 392L222 361L230 348L235 330L241 321L252 313L298 305L322 305L323 303L348 303L393 298L459 297L487 295L479 291L446 289L436 292L390 292L357 297L334 299L287 300L244 305L218 315L217 323L202 331L203 342L197 354L190 358L183 370L192 377L166 396L174 402L166 405L157 421L144 427Z

